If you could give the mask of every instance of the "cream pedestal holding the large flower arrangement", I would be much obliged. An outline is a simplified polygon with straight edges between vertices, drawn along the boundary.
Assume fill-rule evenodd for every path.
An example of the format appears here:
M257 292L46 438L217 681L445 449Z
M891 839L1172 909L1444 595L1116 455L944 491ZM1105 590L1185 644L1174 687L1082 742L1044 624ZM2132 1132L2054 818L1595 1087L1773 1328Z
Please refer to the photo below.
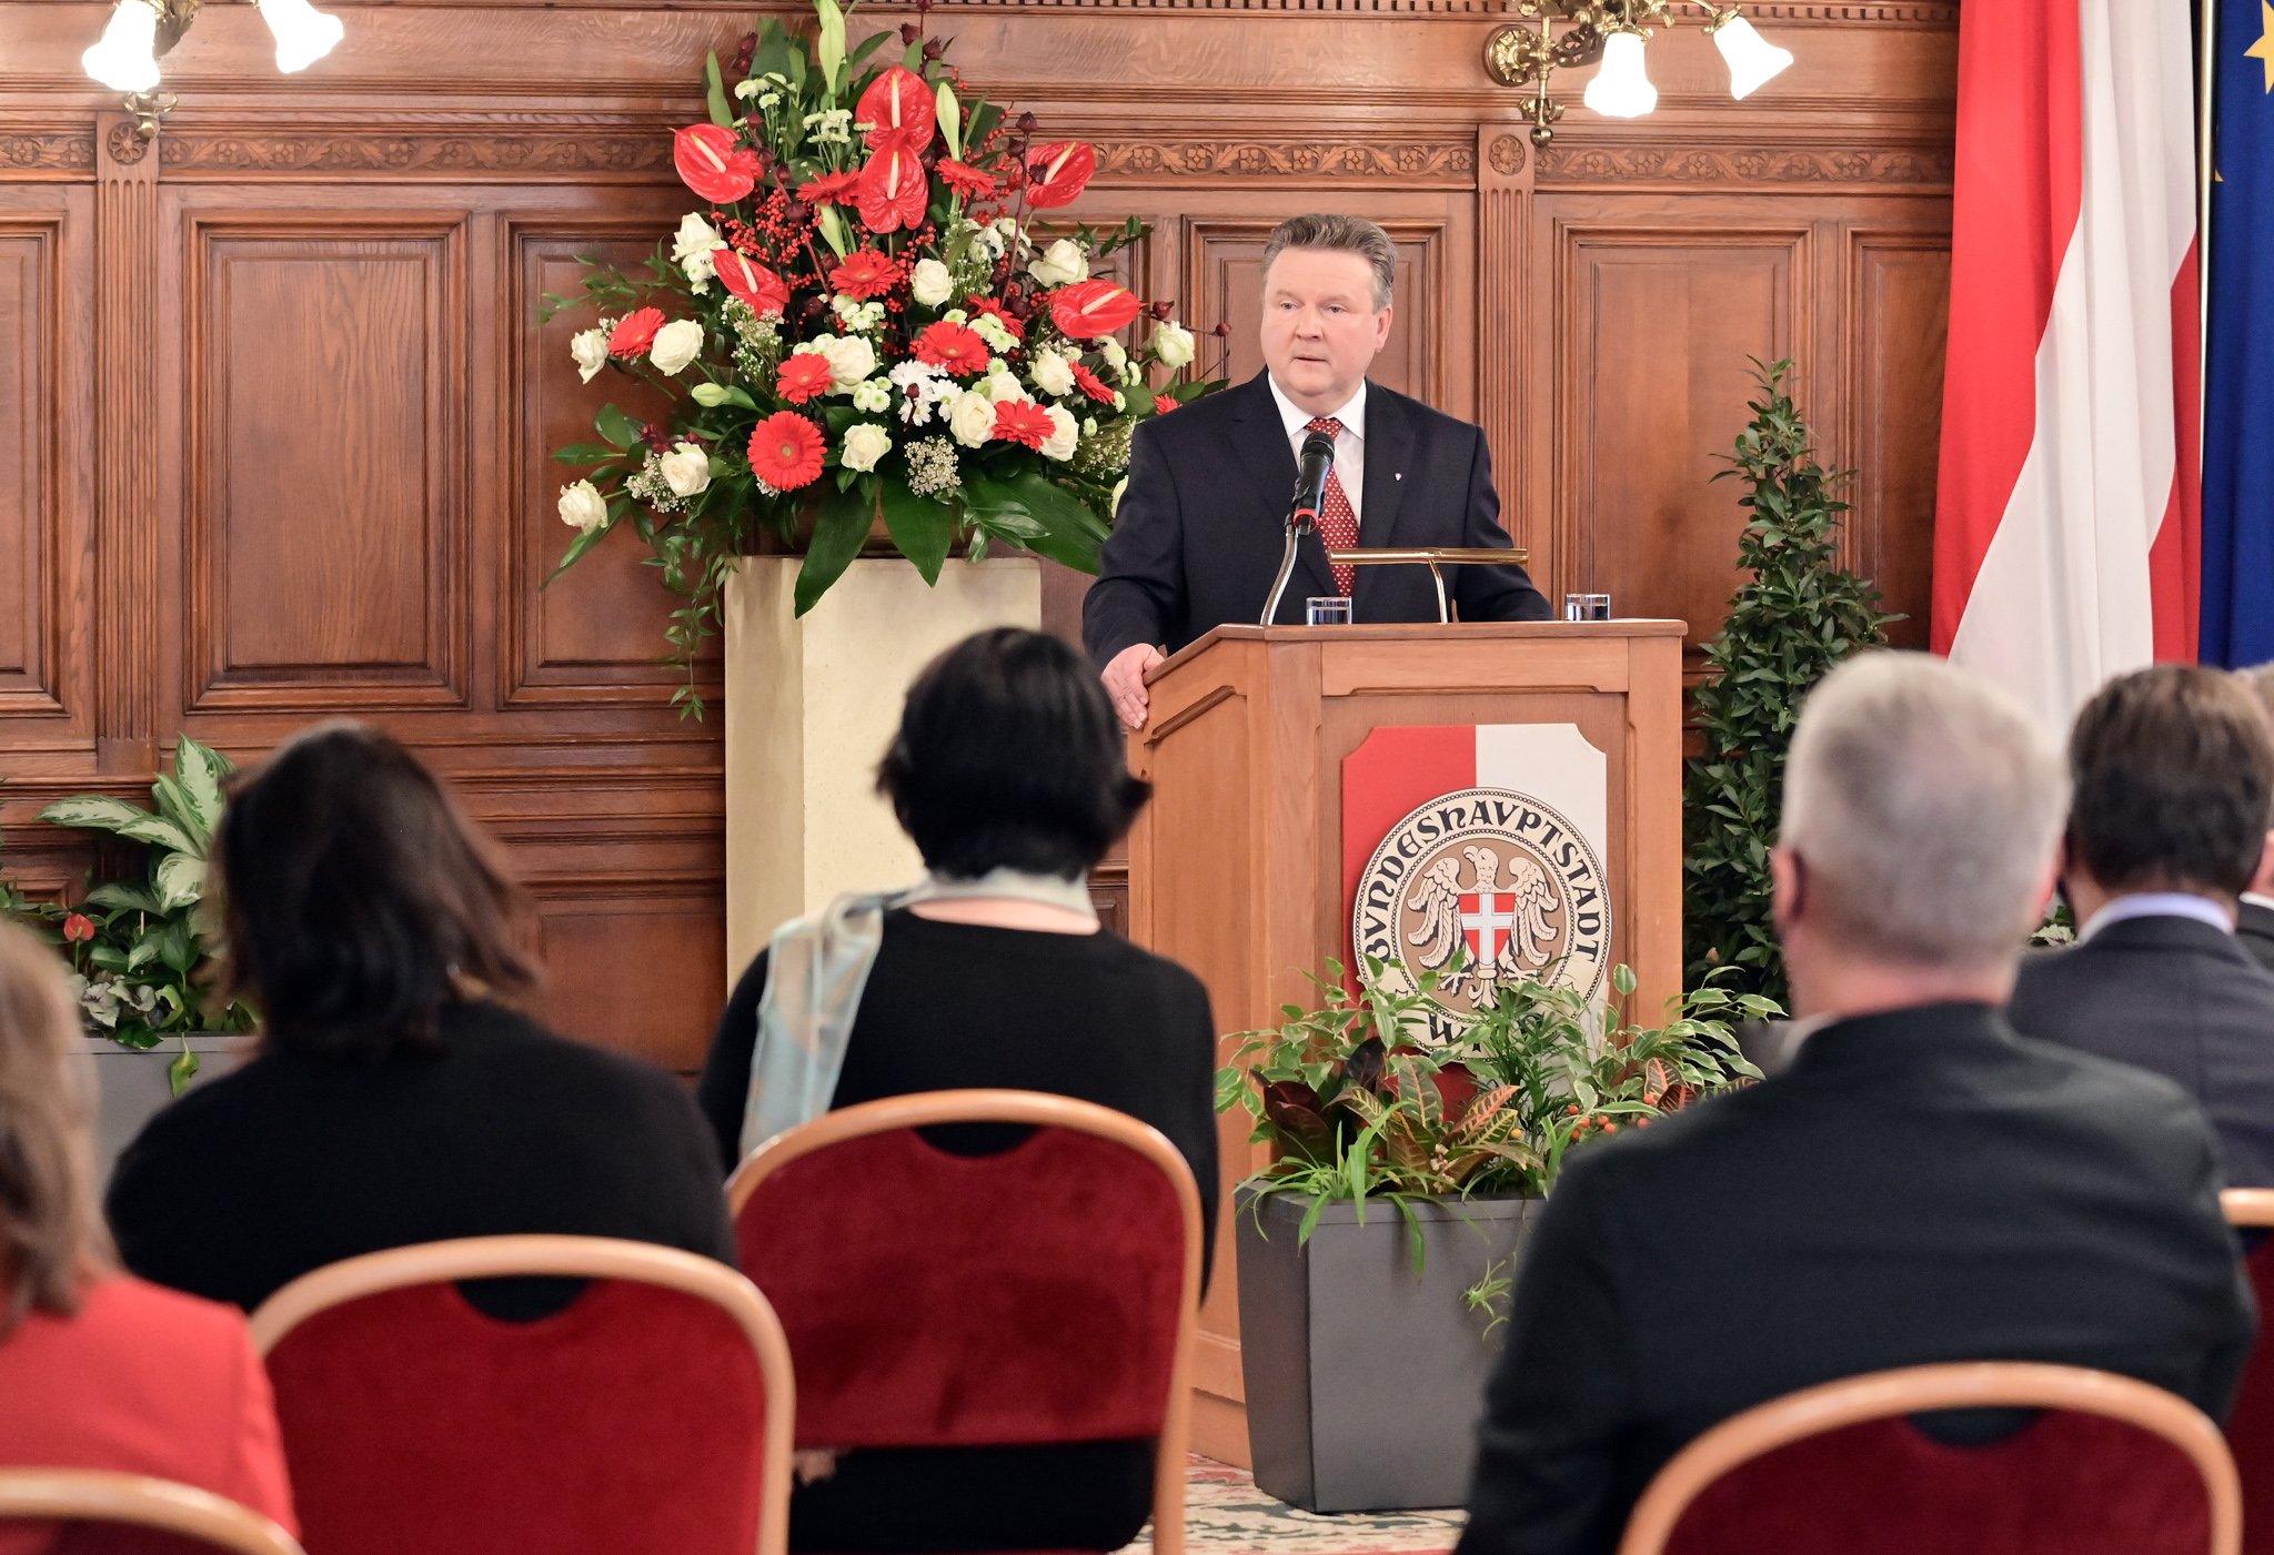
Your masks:
M948 559L928 589L907 562L855 562L803 618L798 557L746 557L725 589L725 966L839 891L923 873L875 764L901 700L941 650L996 625L1041 625L1032 557Z

